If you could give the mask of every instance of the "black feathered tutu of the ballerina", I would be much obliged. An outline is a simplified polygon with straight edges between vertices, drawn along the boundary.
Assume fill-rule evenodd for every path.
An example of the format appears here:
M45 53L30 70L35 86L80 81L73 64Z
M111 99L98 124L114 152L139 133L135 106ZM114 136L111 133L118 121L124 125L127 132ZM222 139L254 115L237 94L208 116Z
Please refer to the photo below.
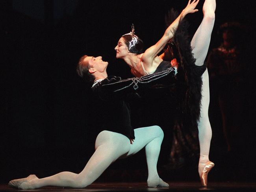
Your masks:
M165 17L166 25L169 26L178 13L171 9ZM167 43L165 49L165 61L176 58L179 63L176 76L176 99L178 109L178 123L184 127L196 127L200 117L200 101L202 98L202 74L206 65L196 66L193 57L190 38L188 34L189 23L183 19L174 34L173 39Z

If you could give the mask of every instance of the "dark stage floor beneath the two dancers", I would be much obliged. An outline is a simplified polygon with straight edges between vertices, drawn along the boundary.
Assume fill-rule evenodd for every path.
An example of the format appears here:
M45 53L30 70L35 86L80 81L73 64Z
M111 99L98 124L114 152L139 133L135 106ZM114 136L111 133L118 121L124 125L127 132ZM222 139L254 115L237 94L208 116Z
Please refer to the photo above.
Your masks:
M256 183L209 183L207 188L201 187L199 182L168 182L169 188L148 188L147 183L93 183L82 189L75 188L62 188L62 187L42 187L35 190L22 190L22 191L38 191L38 192L134 192L134 191L256 191ZM21 191L11 188L8 185L0 185L1 192Z

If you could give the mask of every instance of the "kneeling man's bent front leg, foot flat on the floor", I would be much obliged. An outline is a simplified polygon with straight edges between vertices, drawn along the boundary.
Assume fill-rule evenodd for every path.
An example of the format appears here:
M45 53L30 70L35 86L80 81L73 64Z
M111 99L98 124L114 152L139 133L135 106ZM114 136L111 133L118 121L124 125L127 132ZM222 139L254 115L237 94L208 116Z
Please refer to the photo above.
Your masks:
M163 141L163 130L159 126L134 129L135 140L126 157L134 155L145 147L148 165L148 186L169 186L158 175L157 162Z

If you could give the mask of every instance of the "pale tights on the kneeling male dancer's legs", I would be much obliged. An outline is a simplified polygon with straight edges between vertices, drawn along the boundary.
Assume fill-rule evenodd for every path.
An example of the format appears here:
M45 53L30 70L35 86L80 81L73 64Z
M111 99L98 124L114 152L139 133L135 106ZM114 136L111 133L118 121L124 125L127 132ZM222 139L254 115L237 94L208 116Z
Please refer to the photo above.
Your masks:
M33 189L42 186L69 186L84 188L95 181L108 166L119 158L125 158L137 153L143 147L146 150L148 164L148 185L163 184L158 176L156 164L163 140L163 131L159 126L142 127L134 130L135 139L133 144L120 133L102 131L95 141L95 152L79 174L61 172L42 179L32 179L22 183L22 189Z

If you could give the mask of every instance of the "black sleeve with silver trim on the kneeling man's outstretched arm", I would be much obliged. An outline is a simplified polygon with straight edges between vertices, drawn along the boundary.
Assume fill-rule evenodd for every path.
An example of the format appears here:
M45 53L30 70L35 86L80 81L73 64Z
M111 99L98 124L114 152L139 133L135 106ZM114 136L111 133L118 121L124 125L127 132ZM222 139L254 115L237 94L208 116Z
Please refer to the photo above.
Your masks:
M106 78L101 82L101 87L116 94L124 95L128 92L136 92L140 89L152 87L153 85L169 85L175 78L177 70L175 67L164 71L142 76L139 78Z

